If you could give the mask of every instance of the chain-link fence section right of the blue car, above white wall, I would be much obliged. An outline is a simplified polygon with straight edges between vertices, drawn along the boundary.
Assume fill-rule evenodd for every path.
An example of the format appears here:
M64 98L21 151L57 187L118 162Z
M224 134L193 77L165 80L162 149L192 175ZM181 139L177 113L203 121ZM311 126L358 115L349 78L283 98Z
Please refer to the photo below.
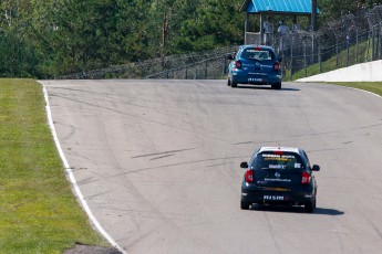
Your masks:
M285 78L295 80L381 60L381 29L382 6L376 6L342 15L316 32L289 32L273 46L285 60Z

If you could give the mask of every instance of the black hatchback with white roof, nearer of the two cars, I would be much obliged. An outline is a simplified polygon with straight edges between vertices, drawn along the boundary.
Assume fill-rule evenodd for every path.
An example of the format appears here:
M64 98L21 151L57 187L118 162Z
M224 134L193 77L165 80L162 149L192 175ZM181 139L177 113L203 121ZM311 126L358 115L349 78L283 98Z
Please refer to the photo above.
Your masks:
M304 150L292 147L259 147L249 162L241 182L240 208L250 205L304 205L304 211L316 209L317 181L313 174L320 166L311 166Z

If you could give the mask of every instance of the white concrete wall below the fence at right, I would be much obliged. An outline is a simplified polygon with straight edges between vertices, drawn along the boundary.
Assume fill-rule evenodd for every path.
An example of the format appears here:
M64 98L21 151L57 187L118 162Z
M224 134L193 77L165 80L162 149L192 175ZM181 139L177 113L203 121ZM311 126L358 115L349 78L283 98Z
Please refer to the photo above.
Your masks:
M382 60L321 73L297 82L382 82Z

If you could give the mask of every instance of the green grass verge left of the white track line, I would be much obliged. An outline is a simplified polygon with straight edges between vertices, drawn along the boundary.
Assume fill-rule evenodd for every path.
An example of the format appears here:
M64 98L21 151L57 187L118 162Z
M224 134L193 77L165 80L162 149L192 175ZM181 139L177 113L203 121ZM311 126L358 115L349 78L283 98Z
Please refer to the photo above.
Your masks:
M44 107L35 81L0 80L0 253L109 246L73 195Z

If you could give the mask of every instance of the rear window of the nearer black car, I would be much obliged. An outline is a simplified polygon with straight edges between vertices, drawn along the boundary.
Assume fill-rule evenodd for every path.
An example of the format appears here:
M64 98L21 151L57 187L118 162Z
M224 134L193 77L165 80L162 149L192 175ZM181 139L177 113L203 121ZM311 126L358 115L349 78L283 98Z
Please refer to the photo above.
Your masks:
M302 170L303 163L299 155L296 154L270 154L262 152L255 157L255 160L251 163L252 169L260 170Z

